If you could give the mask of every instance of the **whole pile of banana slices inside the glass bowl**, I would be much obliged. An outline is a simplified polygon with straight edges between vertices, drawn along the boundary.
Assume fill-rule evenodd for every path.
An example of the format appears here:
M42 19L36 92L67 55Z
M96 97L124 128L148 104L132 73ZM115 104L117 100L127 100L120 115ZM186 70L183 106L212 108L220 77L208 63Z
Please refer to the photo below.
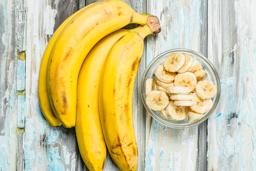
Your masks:
M198 60L187 53L172 53L158 65L155 77L146 80L146 104L166 119L189 122L202 118L217 93Z

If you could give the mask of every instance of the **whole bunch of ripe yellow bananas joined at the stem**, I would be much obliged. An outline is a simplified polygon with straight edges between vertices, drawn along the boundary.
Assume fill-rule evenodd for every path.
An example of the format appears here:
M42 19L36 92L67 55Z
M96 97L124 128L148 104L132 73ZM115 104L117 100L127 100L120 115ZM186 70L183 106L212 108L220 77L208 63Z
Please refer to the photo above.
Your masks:
M140 26L121 29L130 23ZM89 170L103 170L107 148L121 170L136 170L133 84L144 38L160 31L157 17L106 0L74 13L50 39L39 73L41 111L53 127L75 126Z

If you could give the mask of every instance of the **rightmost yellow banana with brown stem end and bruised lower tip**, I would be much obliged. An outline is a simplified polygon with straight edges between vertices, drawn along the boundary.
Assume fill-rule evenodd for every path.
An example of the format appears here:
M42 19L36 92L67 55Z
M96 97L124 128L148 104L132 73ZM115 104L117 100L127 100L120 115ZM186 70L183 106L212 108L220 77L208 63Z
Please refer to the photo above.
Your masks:
M110 49L99 87L99 114L106 145L122 171L135 171L138 150L133 128L133 84L143 53L143 39L160 32L157 17L139 31L125 34Z

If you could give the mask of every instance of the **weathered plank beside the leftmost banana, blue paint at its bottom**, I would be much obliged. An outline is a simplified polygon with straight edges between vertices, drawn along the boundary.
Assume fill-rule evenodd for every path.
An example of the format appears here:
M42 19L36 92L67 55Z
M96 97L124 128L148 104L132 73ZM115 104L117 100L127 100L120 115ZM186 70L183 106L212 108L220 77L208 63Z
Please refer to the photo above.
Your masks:
M79 4L77 0L27 0L26 6L25 170L75 170L75 129L47 123L39 108L38 75L49 38Z

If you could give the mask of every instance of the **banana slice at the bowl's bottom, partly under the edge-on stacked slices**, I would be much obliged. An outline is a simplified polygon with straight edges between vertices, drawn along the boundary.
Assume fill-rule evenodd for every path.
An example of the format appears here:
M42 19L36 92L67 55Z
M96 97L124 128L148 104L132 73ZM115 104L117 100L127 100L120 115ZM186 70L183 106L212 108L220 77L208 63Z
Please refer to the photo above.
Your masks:
M188 107L187 106L176 106L173 100L170 100L166 109L166 116L172 120L183 120L187 117Z

